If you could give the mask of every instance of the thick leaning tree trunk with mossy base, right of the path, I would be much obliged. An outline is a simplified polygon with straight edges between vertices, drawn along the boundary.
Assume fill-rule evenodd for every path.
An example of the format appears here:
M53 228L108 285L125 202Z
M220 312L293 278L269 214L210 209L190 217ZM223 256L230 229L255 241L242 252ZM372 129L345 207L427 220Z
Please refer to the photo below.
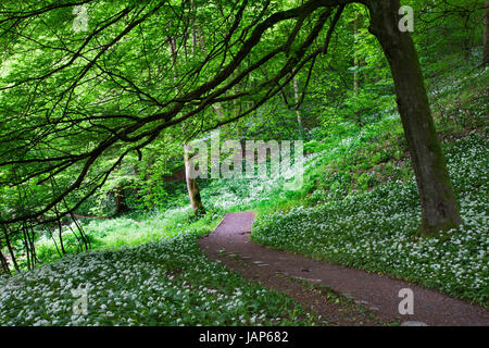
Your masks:
M461 217L429 109L413 39L401 33L399 0L369 0L369 30L380 42L396 85L397 102L408 139L422 206L423 235L461 224Z

